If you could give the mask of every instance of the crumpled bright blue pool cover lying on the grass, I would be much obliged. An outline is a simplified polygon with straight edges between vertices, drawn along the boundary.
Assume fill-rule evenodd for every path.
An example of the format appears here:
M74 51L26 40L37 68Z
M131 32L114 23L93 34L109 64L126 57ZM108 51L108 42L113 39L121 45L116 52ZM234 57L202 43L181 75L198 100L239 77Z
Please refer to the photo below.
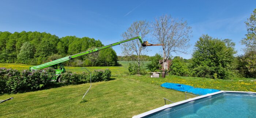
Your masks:
M208 88L194 88L190 85L175 84L175 83L163 83L161 84L161 87L170 88L170 89L183 91L183 92L190 92L196 95L206 95L206 94L220 91L220 90L208 89Z

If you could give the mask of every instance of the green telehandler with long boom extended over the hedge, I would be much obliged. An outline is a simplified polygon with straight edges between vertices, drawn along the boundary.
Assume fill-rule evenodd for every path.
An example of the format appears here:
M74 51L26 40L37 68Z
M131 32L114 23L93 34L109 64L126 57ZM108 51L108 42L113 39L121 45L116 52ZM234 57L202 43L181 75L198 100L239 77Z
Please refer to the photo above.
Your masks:
M95 49L87 50L85 52L81 52L81 53L74 54L74 55L71 55L71 56L63 57L63 58L60 58L60 59L57 59L57 60L54 60L54 61L47 62L45 64L41 64L41 65L37 65L37 66L32 66L32 67L29 67L29 70L33 71L33 70L43 69L43 68L47 68L47 67L52 67L53 69L56 70L55 78L53 78L52 81L62 82L61 79L60 79L60 75L65 73L65 68L64 68L62 62L65 62L65 61L68 61L68 60L72 60L72 59L75 59L75 58L79 58L79 57L82 57L82 56L86 56L88 54L91 54L91 53L94 53L94 52L98 52L100 50L104 50L104 49L107 49L109 47L113 47L113 46L119 45L119 44L127 42L127 41L132 41L134 39L139 39L139 41L142 44L142 46L151 46L150 43L148 43L147 41L143 42L141 37L138 36L138 37L134 37L134 38L131 38L131 39L124 40L124 41L116 42L116 43L113 43L113 44L110 44L110 45L106 45L106 46L102 46L102 47L97 47Z

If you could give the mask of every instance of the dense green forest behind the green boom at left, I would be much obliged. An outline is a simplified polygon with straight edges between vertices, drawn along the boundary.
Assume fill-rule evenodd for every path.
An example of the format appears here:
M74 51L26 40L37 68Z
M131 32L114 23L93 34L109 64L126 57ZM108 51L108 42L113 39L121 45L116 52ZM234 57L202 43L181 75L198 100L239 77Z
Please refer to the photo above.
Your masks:
M56 35L37 31L0 32L0 63L38 65L101 46L103 46L101 41L89 37L59 38ZM114 66L117 64L117 55L112 48L109 48L64 64L68 66Z

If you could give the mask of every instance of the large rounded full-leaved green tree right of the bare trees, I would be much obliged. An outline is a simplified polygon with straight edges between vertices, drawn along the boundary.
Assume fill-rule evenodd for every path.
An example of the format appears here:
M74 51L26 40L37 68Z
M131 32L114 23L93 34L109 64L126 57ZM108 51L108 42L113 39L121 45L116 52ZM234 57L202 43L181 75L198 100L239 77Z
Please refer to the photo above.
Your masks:
M192 54L193 76L231 79L236 51L233 46L227 46L225 41L208 35L199 38Z

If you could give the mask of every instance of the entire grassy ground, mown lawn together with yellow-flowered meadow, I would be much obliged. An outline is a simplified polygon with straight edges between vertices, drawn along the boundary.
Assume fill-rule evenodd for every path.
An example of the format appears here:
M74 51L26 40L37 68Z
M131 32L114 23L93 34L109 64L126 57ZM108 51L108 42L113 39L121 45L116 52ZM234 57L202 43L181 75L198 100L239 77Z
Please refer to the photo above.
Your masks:
M167 76L150 78L128 76L126 61L120 66L87 67L110 69L111 81L93 83L91 90L82 101L90 84L68 85L48 90L22 94L1 95L0 99L14 99L0 104L0 117L132 117L164 105L164 98L173 102L185 99L183 92L160 87L162 83L180 83L200 88L213 88L229 91L256 92L255 79L213 80L199 77ZM31 65L0 64L0 67L18 70L29 69ZM72 72L83 72L81 67L66 67ZM188 96L192 98L194 96Z

